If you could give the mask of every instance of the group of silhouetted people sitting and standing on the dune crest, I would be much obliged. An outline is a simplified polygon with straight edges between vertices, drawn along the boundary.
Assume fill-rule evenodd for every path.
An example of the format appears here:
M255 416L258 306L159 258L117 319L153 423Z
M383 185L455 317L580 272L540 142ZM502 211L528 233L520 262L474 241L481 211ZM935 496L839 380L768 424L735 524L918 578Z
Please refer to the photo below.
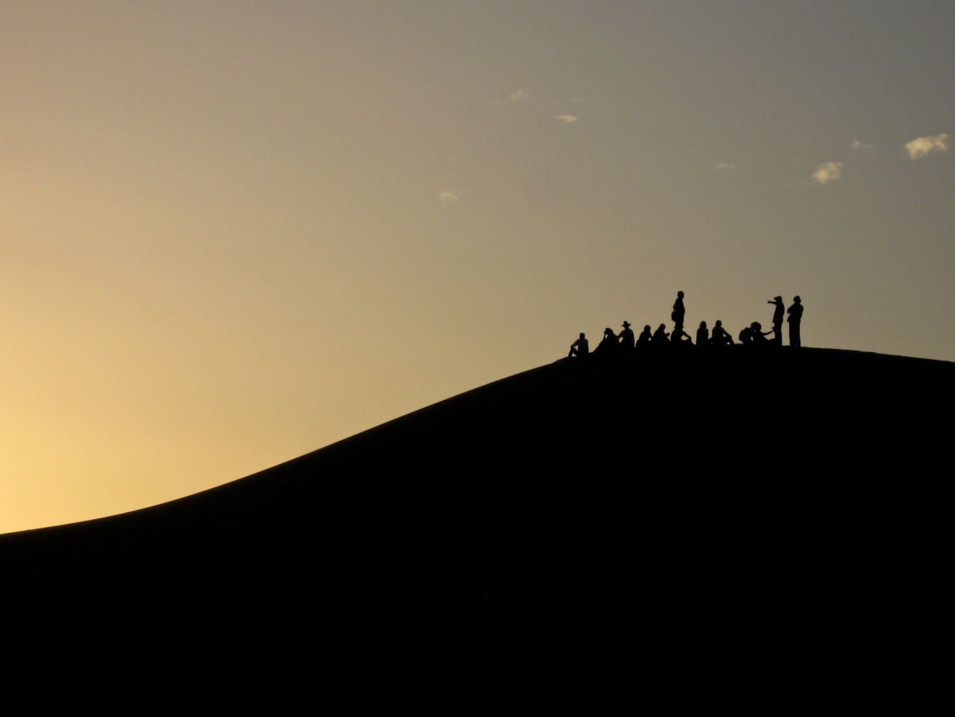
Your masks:
M744 346L782 346L782 324L783 318L789 323L789 345L794 348L801 346L799 339L799 322L802 320L802 299L798 296L793 297L793 305L786 309L782 301L782 296L768 299L767 304L773 304L773 328L764 332L763 326L758 321L753 321L739 332L739 342ZM664 345L678 346L732 346L735 342L732 336L723 328L722 321L716 321L713 326L712 336L710 329L707 328L706 321L700 321L700 328L696 330L696 343L693 343L692 337L683 330L683 319L687 310L683 305L683 292L676 293L676 301L673 304L673 313L669 315L673 321L673 331L667 333L667 324L660 324L656 331L651 332L649 324L644 327L643 333L638 338L634 338L633 331L630 329L629 321L624 321L624 330L620 334L615 334L613 329L604 329L604 337L600 344L594 349L595 354L608 354L611 352L641 349L647 346L662 348ZM772 336L772 339L767 337ZM587 337L581 334L570 345L570 353L567 357L586 356L590 353L590 344Z

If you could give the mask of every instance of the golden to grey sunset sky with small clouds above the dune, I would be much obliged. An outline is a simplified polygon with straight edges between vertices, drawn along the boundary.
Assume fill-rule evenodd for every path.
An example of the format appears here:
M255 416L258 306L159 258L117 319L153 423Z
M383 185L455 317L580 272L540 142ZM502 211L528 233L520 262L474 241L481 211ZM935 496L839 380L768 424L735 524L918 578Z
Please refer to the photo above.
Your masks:
M953 38L951 2L6 0L0 532L240 478L678 290L690 327L798 293L805 346L955 359Z

